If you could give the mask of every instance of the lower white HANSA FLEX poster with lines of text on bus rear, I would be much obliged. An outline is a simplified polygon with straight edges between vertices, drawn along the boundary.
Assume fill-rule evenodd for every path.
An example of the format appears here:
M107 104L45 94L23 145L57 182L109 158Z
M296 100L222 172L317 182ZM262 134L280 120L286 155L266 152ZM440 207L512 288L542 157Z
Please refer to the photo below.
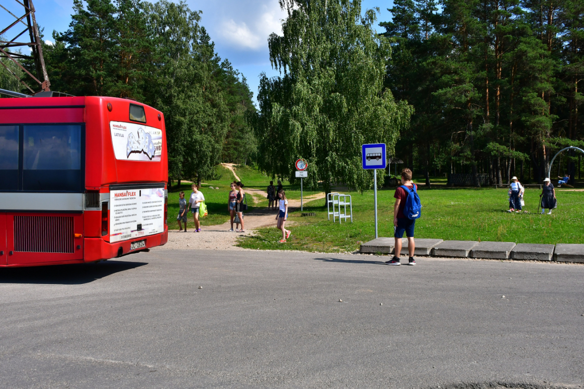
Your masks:
M164 232L164 188L110 191L110 243Z

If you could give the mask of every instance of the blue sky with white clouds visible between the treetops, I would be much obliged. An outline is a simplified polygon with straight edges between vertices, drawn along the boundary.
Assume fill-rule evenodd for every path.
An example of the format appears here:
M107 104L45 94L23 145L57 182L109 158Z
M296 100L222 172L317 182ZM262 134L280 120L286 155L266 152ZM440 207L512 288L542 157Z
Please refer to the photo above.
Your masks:
M279 75L270 66L267 49L267 37L272 32L281 33L280 20L286 17L278 0L187 0L187 3L191 9L203 11L201 24L215 42L215 50L245 75L255 101L259 74ZM2 1L2 5L15 15L22 15L22 6L16 1ZM73 0L34 0L37 23L44 27L46 40L52 40L53 30L67 30L72 5ZM391 0L363 0L361 6L363 9L379 7L378 22L390 19L387 8L391 8ZM0 9L0 25L7 26L12 20L11 15ZM379 26L377 29L382 31Z

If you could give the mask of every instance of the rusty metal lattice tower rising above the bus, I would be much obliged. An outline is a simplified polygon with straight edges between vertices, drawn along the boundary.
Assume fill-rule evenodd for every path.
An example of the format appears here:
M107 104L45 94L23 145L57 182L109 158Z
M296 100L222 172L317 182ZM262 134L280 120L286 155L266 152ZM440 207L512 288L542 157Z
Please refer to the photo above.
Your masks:
M4 62L0 61L0 64L8 70L8 72L12 73L22 85L24 85L28 90L30 90L31 94L36 94L39 92L48 92L50 91L51 83L48 80L47 68L44 65L43 59L43 46L40 40L39 34L39 27L36 23L36 17L34 16L34 5L32 0L14 0L16 3L19 4L24 8L24 14L22 16L16 16L12 13L8 8L5 7L6 1L8 0L1 0L0 7L3 8L6 12L14 17L14 21L5 27L0 27L0 36L7 37L7 34L10 36L14 36L11 40L0 40L0 58L8 58L12 62L14 62L23 72L25 72L34 82L38 84L37 87L30 87L29 84L21 79L16 73L12 72L11 69L8 68L4 64ZM23 29L22 31L20 29ZM28 33L30 42L27 42L26 39L22 39L23 35ZM16 35L14 35L16 34ZM24 49L20 52L18 49ZM22 51L28 52L31 50L30 55L23 54ZM27 71L24 66L20 63L23 59L32 59L34 61L34 66L36 68L36 76L32 73ZM37 88L40 87L40 90ZM37 89L37 90L35 90Z

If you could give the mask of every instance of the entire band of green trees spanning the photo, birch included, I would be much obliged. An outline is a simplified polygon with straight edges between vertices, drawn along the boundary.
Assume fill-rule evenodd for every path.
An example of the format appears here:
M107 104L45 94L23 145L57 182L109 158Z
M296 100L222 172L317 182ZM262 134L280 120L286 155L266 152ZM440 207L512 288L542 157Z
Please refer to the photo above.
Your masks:
M75 0L43 47L51 88L163 111L175 179L252 161L294 180L304 157L309 184L365 189L360 145L385 142L427 185L541 182L559 149L584 148L582 0L395 0L382 34L358 0L279 3L283 36L266 43L280 76L260 75L257 111L185 2ZM3 68L0 83L19 88ZM581 159L564 153L552 177L580 178Z

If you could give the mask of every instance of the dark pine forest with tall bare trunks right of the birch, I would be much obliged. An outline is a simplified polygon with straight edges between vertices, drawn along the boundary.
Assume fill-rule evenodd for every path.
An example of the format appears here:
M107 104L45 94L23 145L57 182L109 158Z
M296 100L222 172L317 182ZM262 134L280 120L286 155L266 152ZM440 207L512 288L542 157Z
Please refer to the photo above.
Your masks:
M415 108L396 154L426 179L541 182L559 149L582 148L582 0L395 0L389 10L385 85ZM556 160L552 177L579 176L580 159Z

